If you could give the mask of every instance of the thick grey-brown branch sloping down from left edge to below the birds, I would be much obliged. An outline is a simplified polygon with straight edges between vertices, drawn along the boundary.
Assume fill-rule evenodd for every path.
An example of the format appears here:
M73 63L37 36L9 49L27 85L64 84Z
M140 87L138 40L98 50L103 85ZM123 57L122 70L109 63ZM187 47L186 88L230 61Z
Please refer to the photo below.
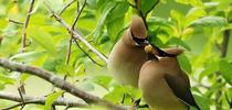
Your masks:
M99 106L104 106L104 107L115 109L115 110L125 110L125 107L113 105L106 100L101 99L99 97L96 97L96 96L89 95L83 90L80 90L74 85L55 76L54 73L51 73L51 72L38 68L38 67L11 62L6 58L0 58L0 66L8 68L10 70L13 70L13 72L27 73L29 75L38 76L38 77L51 82L55 87L61 88L75 97L82 98L87 103L99 105Z

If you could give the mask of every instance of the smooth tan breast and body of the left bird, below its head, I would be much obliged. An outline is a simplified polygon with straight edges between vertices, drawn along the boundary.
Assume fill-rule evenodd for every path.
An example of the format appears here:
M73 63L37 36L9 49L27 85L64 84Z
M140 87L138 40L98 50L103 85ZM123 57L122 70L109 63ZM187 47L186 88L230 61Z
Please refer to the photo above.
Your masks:
M138 87L138 76L147 55L141 47L127 46L118 41L108 57L108 70L120 84Z

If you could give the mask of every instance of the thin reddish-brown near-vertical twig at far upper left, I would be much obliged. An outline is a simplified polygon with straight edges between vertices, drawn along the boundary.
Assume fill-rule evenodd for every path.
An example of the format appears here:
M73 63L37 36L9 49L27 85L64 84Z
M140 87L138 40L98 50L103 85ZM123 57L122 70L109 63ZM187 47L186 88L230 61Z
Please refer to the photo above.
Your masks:
M29 21L30 21L31 14L32 14L34 1L35 1L35 0L31 0L31 1L30 1L30 7L29 7L29 10L28 10L28 13L27 13L25 21L24 21L24 23L23 23L23 28L22 28L22 46L21 46L20 52L24 52L24 51L25 51L27 28L28 28L28 25L29 25Z

